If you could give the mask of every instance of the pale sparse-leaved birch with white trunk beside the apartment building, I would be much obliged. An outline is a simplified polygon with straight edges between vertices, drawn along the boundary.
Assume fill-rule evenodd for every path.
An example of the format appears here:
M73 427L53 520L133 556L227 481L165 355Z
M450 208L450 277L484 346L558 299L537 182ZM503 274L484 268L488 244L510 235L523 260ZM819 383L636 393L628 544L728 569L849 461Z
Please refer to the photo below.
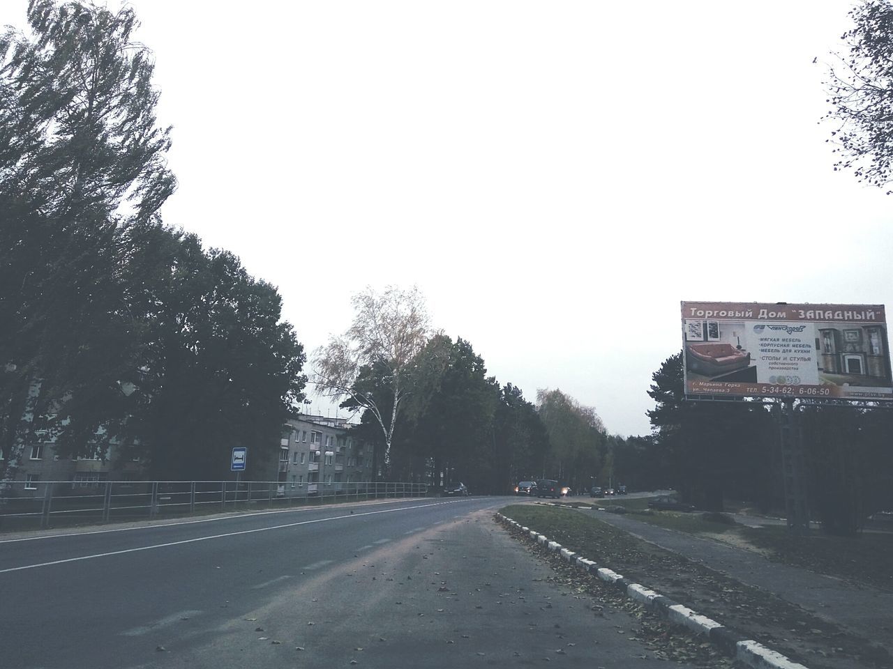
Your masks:
M365 409L375 417L385 443L387 469L397 419L412 391L413 361L428 342L428 314L416 287L388 286L380 294L367 287L351 302L353 324L315 352L313 383L323 395L346 399L346 408ZM364 376L380 379L377 392L357 384Z

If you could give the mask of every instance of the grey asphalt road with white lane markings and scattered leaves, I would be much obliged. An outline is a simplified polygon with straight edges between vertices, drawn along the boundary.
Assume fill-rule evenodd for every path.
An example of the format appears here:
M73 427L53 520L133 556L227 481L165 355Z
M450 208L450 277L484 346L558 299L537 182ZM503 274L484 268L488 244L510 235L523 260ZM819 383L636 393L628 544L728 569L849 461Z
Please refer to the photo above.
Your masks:
M0 541L0 665L650 667L549 581L514 498L399 500ZM673 663L670 663L673 664Z

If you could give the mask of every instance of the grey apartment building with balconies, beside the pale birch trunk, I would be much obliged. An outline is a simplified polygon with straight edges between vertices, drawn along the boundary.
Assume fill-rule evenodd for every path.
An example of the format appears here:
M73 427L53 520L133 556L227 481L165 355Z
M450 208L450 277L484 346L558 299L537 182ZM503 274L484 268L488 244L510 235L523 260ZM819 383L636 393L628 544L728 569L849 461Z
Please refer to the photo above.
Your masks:
M373 476L372 444L351 434L346 418L302 416L288 420L275 480L295 494L350 490Z

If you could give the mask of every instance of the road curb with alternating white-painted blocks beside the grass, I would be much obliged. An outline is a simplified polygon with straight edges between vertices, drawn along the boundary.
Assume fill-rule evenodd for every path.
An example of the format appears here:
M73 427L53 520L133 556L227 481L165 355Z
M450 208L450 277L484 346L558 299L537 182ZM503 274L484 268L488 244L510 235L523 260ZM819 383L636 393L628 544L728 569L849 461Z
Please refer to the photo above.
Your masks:
M714 646L722 649L722 652L734 657L739 662L753 667L753 669L808 669L789 657L766 648L758 641L747 639L739 632L717 623L705 615L700 615L689 607L681 605L668 597L664 597L657 591L651 590L645 585L634 583L617 574L606 566L599 566L595 560L584 558L572 550L565 549L557 541L550 541L545 534L540 534L530 527L524 527L511 518L497 512L497 519L509 526L510 529L522 532L533 541L545 546L554 553L558 553L573 566L597 576L602 581L612 584L630 599L635 599L642 606L656 611L673 624L685 627L690 632L705 636Z

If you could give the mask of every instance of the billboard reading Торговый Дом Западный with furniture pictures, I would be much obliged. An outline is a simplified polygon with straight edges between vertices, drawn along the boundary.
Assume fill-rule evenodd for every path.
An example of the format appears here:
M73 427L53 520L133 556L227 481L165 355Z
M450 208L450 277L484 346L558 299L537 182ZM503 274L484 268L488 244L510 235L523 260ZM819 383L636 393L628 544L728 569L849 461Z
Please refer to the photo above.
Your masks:
M687 395L893 401L878 304L682 302Z

